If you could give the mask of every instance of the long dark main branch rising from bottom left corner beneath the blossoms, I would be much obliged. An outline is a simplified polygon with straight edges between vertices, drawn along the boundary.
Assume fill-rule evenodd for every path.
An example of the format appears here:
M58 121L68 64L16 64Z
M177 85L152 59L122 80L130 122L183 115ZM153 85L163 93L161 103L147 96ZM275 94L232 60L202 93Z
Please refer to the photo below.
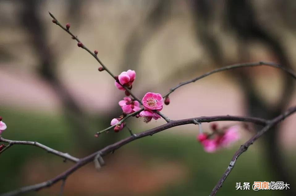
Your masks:
M296 107L294 107L294 110L296 110ZM252 117L241 117L241 116L211 116L211 117L197 117L197 118L188 118L188 119L182 119L182 120L171 120L170 122L155 127L153 129L150 130L146 130L137 134L134 134L134 136L129 136L119 142L116 142L114 144L111 144L109 146L104 147L103 149L88 155L87 157L81 158L74 166L72 166L70 169L66 170L65 172L59 174L58 176L56 176L55 178L52 178L46 182L42 182L39 184L35 184L32 186L25 186L23 188L20 188L18 190L14 190L5 194L2 194L1 196L13 196L13 195L17 195L17 194L21 194L21 193L25 193L28 191L32 191L32 190L40 190L44 187L49 187L52 186L53 184L59 182L60 180L68 177L70 174L72 174L73 172L75 172L76 170L78 170L80 167L86 165L87 163L91 162L94 160L94 158L97 156L97 154L99 153L102 157L112 153L113 151L119 149L120 147L128 144L129 142L132 142L136 139L139 138L143 138L149 135L153 135L156 134L160 131L169 129L171 127L175 127L175 126L180 126L180 125L186 125L186 124L196 124L196 122L214 122L214 121L242 121L242 122L252 122L258 125L262 125L265 126L267 125L267 123L269 121L264 120L262 118L252 118Z

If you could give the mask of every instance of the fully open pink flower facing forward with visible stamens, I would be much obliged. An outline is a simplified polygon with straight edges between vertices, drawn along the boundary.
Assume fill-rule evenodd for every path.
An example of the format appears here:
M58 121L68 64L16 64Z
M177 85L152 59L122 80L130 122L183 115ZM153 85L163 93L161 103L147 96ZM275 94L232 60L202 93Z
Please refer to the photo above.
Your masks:
M145 110L162 110L163 98L159 93L146 93L142 99Z

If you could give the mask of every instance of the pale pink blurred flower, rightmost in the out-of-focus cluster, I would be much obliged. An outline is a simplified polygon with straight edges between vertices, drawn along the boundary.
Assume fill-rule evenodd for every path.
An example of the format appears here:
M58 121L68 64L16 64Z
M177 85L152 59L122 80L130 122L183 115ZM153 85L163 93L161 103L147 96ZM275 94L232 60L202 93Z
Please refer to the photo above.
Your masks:
M222 135L219 143L222 147L229 147L231 144L239 140L239 126L230 126Z

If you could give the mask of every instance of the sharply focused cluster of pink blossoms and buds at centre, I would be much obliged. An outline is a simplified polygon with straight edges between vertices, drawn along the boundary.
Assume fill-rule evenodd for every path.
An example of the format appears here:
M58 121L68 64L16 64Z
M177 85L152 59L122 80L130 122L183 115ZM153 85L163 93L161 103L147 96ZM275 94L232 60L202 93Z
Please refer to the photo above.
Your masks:
M127 70L124 72L121 72L118 76L115 77L115 86L119 90L125 91L125 95L127 97L124 97L123 100L119 101L118 104L121 107L123 111L123 115L121 115L119 118L113 118L111 121L111 125L115 125L114 131L118 132L122 130L125 126L123 122L120 122L127 114L131 114L133 112L137 112L141 110L140 105L142 104L144 106L144 110L141 111L139 114L135 115L138 117L143 117L143 121L148 123L153 119L157 120L160 118L158 114L155 113L155 111L160 111L163 109L163 98L161 94L158 93L146 93L145 96L142 99L142 103L138 102L137 100L134 100L133 98L128 97L129 91L133 88L133 82L136 79L136 72L134 70ZM169 99L166 98L165 104L169 104Z

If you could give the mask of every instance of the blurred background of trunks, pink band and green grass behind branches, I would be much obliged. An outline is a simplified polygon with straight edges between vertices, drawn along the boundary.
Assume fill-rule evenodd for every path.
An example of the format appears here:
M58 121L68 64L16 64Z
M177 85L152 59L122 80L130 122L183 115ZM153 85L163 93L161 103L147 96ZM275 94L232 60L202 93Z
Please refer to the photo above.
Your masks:
M124 96L107 72L61 28L48 11L118 75L137 77L133 92L164 94L179 82L215 68L270 61L296 70L296 2L293 0L121 0L0 2L0 115L2 137L38 141L82 158L129 136L96 131L121 114ZM211 115L273 118L295 106L295 82L281 70L244 68L218 73L171 94L171 119ZM295 114L270 130L238 160L217 195L296 195ZM165 123L129 118L140 132ZM219 126L239 124L218 122ZM210 124L203 123L209 130ZM197 126L165 130L134 141L66 181L64 195L208 195L238 147L260 127L241 129L229 149L205 153ZM13 146L0 156L0 193L43 182L69 168L34 146ZM235 190L236 182L283 181L290 190ZM61 182L24 195L57 195Z

